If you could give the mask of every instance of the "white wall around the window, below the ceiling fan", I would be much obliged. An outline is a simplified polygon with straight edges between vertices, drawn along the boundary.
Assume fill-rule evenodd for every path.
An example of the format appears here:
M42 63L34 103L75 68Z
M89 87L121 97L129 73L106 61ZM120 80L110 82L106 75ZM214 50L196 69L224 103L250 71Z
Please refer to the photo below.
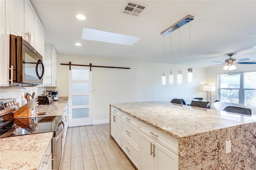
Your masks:
M224 65L216 67L206 68L206 83L208 85L216 85L216 92L212 92L212 100L217 100L217 88L218 88L218 74L228 74L228 73L239 73L244 71L256 71L255 64L236 64L236 69L234 70L224 70Z

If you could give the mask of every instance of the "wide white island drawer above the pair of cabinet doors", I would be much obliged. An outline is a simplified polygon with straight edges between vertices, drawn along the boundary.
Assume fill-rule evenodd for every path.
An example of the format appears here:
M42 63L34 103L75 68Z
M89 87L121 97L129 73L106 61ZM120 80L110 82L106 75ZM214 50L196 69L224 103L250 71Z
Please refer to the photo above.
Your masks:
M170 136L169 134L166 134L143 122L140 122L140 131L178 155L179 145L177 138L174 138L173 136Z

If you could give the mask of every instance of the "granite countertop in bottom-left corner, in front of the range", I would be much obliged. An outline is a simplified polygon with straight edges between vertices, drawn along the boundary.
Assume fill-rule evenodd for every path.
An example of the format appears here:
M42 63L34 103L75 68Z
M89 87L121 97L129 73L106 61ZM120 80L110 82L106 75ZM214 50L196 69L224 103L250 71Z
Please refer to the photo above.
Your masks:
M0 169L36 170L53 132L0 138Z

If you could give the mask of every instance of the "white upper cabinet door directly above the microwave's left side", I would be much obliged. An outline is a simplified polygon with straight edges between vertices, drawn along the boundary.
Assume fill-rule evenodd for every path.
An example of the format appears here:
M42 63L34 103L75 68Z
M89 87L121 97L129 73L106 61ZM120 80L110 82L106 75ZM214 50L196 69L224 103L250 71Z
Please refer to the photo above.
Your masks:
M10 9L6 8L6 13L10 12L10 34L24 37L24 1L10 0L8 2L10 2Z

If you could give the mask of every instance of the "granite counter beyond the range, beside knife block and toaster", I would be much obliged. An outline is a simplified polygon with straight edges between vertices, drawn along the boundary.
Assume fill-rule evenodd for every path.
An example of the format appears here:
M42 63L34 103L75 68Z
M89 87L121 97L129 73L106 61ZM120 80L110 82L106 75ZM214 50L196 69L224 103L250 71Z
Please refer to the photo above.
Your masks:
M60 97L59 97L60 98ZM68 98L64 98L59 101L54 101L50 105L38 105L36 107L35 113L30 115L29 117L46 117L46 116L61 116L66 104L68 102ZM46 112L45 115L38 115L36 113Z

